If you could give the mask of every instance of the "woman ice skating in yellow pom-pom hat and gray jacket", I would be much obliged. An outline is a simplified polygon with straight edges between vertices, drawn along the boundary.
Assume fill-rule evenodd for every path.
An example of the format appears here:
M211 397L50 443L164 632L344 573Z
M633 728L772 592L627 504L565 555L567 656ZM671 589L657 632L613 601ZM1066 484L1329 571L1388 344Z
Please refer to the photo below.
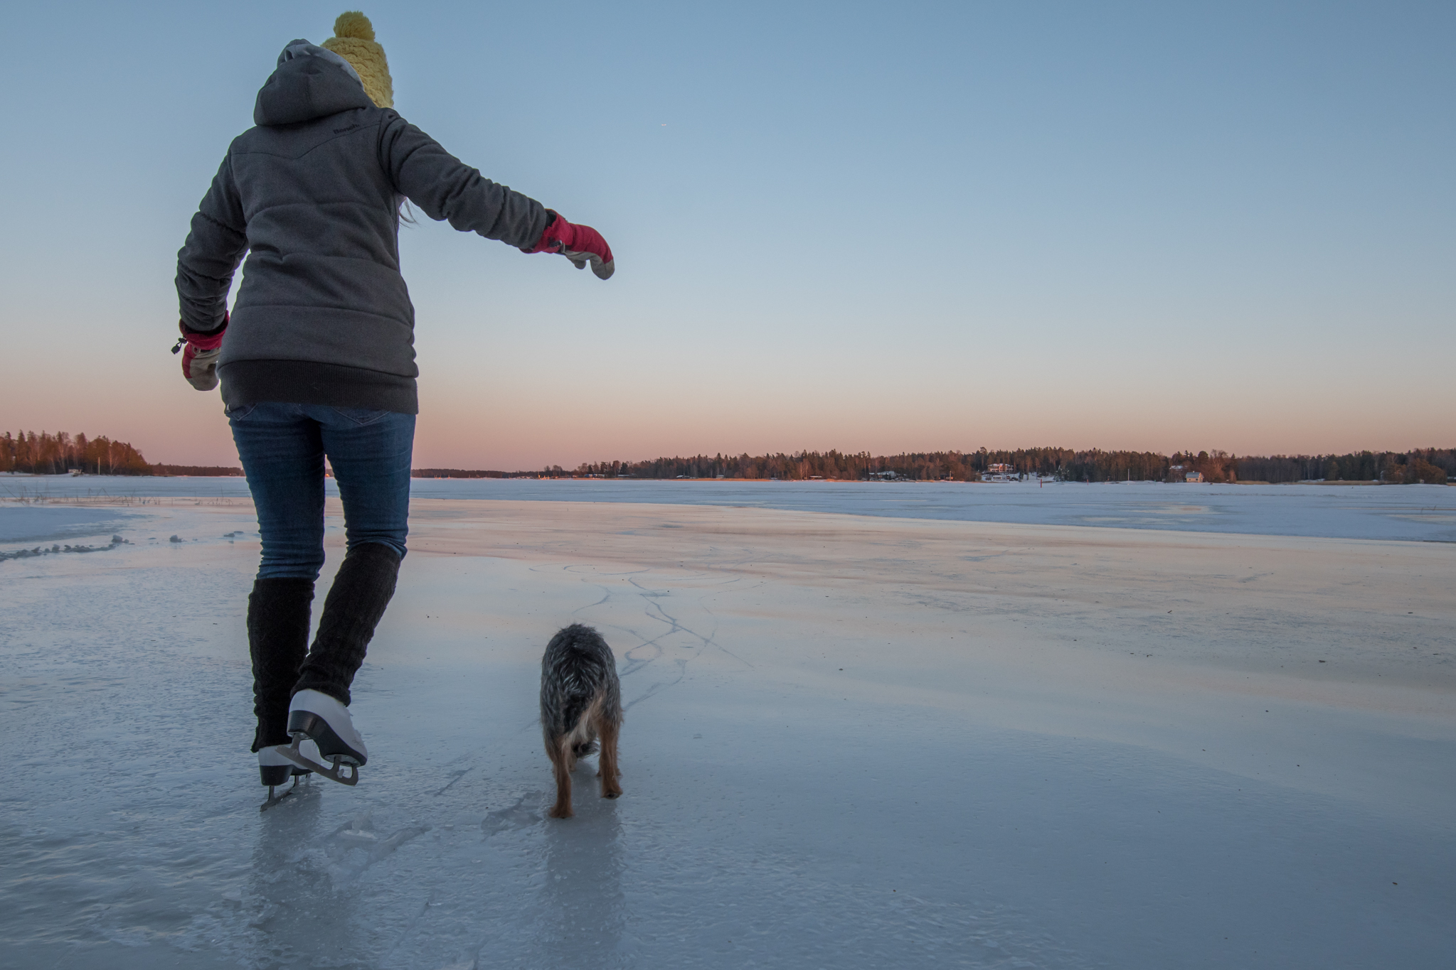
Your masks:
M534 199L480 177L393 111L374 28L290 42L258 92L256 127L227 150L178 253L182 375L223 385L262 564L248 598L262 782L319 771L354 784L368 753L349 684L395 593L409 518L415 313L399 273L405 199L457 230L553 252L601 279L612 249ZM232 318L227 291L248 265ZM348 551L309 647L323 566L323 460ZM313 746L317 746L314 750Z

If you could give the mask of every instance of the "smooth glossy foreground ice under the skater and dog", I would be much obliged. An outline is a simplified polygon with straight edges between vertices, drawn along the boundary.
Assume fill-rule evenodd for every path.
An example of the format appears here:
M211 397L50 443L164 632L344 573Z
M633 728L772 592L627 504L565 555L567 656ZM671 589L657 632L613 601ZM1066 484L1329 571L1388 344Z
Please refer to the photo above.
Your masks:
M363 781L259 813L252 509L146 513L0 563L6 966L1449 966L1449 544L421 499Z

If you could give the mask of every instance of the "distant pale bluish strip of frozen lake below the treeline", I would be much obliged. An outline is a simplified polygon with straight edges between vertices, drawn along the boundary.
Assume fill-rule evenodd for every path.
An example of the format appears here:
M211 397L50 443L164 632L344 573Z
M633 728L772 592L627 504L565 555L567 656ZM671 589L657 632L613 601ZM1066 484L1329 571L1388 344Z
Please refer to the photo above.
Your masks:
M338 494L333 480L329 494ZM628 502L960 522L1456 542L1449 486L415 478L416 499ZM243 478L0 476L0 499L249 497ZM0 509L6 503L0 503ZM0 542L10 541L0 524Z

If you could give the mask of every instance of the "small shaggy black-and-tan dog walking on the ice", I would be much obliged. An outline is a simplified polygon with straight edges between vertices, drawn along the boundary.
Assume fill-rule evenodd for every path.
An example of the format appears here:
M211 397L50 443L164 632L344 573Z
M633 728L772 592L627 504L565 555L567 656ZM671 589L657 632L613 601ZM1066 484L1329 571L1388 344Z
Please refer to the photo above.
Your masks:
M546 644L542 657L542 739L556 774L553 819L569 819L571 772L577 759L597 750L601 797L622 794L617 778L617 731L622 729L622 685L612 647L591 627L574 622Z

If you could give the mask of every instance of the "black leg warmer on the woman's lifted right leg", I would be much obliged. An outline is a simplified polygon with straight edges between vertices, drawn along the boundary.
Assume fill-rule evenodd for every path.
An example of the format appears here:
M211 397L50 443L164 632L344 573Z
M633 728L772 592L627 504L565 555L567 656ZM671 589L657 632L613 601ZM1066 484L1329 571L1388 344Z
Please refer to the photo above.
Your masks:
M313 689L349 702L349 684L364 663L364 650L374 638L384 608L395 595L399 556L383 542L364 542L349 550L323 601L319 636L303 662L294 692Z

